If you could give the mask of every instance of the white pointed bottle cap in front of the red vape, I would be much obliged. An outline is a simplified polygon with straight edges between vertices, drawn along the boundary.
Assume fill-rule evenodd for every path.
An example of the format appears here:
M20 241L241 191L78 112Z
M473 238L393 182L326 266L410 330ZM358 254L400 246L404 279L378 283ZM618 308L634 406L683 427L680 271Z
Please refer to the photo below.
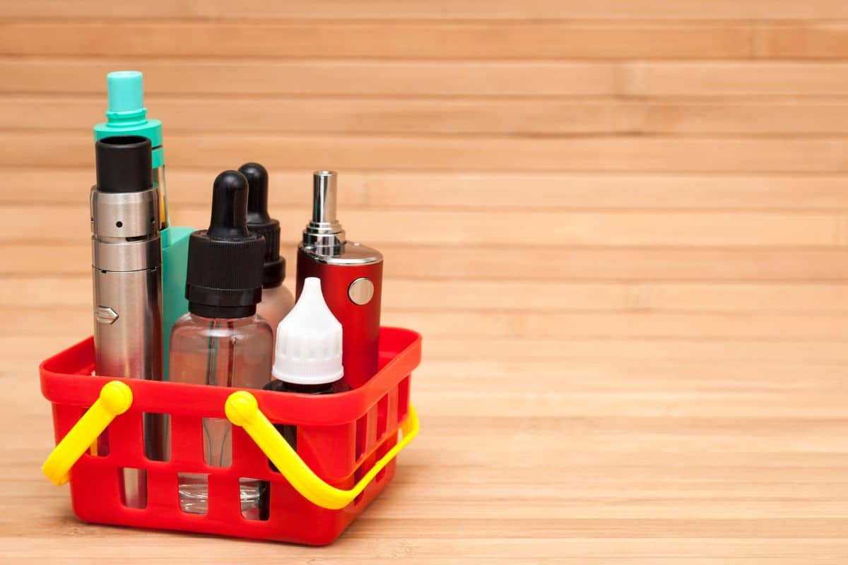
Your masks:
M324 385L342 378L342 324L321 294L321 280L304 280L292 311L276 328L271 374L296 385Z

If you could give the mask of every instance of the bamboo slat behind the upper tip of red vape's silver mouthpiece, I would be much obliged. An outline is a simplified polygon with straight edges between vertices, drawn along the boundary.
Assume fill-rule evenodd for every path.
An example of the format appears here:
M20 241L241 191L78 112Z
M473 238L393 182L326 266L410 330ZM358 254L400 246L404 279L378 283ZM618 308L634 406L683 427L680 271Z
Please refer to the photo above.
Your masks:
M208 205L216 169L168 169L174 205ZM4 169L8 186L39 187L47 207L81 203L94 182L91 167ZM823 211L848 208L845 174L615 174L494 173L347 170L342 206L371 209L555 211ZM272 207L303 209L310 200L311 170L271 174ZM532 190L523 190L529 188ZM803 198L798 195L803 193ZM21 191L0 191L0 202L31 204ZM296 219L296 229L304 219Z

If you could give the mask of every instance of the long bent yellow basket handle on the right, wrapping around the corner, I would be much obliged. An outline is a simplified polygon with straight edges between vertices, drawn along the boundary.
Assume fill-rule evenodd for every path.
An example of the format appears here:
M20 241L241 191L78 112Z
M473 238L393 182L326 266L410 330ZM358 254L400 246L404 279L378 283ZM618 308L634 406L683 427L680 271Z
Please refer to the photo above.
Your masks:
M310 502L330 510L338 510L348 506L350 501L353 501L362 490L365 490L371 479L374 479L377 473L382 471L382 468L418 434L418 415L415 408L410 404L410 411L400 427L404 434L403 439L393 446L386 455L382 456L374 467L354 485L354 488L341 490L327 485L318 475L312 472L312 469L298 456L297 451L294 451L292 446L289 446L288 442L282 438L274 424L271 424L268 418L265 418L265 414L259 410L256 398L252 394L247 391L233 392L226 399L225 410L226 417L232 424L241 426L248 432L259 449L271 459L271 462L295 490Z

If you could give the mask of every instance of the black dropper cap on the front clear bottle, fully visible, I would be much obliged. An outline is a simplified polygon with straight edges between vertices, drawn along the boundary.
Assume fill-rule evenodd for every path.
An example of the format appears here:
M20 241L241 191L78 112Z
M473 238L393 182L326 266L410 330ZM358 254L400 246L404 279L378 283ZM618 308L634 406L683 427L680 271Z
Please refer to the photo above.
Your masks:
M245 318L262 299L265 241L247 226L248 180L234 170L215 178L209 230L188 241L188 310L204 318Z

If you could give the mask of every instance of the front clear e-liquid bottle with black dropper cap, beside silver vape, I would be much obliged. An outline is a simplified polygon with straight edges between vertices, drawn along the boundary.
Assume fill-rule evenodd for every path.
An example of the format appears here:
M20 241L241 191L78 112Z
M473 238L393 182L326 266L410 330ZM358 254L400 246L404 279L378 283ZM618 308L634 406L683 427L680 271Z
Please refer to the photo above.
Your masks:
M271 374L271 326L256 313L262 297L265 241L247 227L248 181L225 171L212 189L209 230L195 231L188 246L188 313L170 340L170 380L260 389ZM204 459L214 467L232 463L232 424L204 418ZM207 476L180 474L183 511L206 513ZM242 479L239 496L246 518L259 512L261 485Z

